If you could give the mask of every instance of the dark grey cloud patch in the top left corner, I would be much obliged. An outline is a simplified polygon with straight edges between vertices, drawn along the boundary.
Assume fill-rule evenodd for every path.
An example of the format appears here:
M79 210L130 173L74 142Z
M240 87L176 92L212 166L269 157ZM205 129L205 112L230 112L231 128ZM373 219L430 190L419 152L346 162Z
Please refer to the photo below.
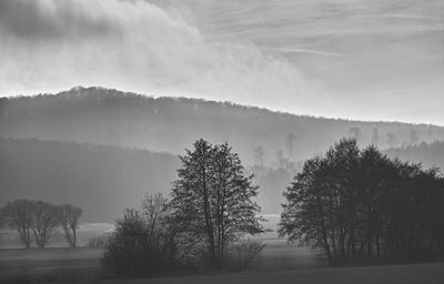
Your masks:
M90 13L78 1L0 0L0 29L24 40L81 39L115 34L112 17Z

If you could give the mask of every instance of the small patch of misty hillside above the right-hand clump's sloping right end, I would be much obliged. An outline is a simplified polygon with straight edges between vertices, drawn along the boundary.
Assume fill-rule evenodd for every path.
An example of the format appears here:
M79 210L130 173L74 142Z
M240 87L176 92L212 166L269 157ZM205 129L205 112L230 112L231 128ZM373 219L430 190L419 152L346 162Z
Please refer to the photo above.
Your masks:
M422 162L426 168L438 166L444 173L444 142L421 143L415 146L387 149L384 152L403 161Z

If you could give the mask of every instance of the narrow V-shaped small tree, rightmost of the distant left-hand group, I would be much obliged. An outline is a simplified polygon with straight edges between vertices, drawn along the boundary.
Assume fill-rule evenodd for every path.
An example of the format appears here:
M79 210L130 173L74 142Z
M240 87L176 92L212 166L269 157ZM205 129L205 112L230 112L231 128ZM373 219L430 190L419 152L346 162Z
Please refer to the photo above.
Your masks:
M64 239L71 247L77 245L77 229L82 209L71 204L59 205L59 221L64 232Z

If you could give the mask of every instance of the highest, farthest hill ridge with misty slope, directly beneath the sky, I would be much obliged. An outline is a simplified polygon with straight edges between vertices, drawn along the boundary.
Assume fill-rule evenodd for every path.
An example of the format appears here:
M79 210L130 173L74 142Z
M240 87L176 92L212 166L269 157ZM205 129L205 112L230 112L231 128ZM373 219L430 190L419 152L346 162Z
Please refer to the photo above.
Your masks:
M355 131L351 132L354 128ZM356 131L357 130L357 131ZM0 136L117 144L182 153L196 139L229 142L246 164L262 145L265 164L295 135L293 160L325 151L344 135L380 148L444 140L444 128L301 116L265 109L184 98L150 98L102 88L74 88L56 95L0 99Z

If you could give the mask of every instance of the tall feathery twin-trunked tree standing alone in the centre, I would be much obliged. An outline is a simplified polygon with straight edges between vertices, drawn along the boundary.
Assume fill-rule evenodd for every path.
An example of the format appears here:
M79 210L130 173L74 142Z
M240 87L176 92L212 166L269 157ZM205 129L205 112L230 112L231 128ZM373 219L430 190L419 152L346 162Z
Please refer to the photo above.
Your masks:
M230 241L263 232L260 206L253 201L258 186L228 144L201 139L180 160L171 201L175 222L206 245L211 267L221 266Z

